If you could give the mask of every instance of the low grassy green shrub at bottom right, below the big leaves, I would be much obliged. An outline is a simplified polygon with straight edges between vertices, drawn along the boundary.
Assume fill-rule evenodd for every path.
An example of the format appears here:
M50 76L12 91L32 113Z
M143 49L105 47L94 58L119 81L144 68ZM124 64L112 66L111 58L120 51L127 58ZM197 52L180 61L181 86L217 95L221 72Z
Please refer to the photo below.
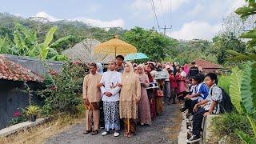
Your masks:
M232 143L242 143L242 140L235 134L236 130L253 135L253 130L246 115L236 112L215 117L211 122L211 129L213 130L213 135L218 137L218 139L227 135Z

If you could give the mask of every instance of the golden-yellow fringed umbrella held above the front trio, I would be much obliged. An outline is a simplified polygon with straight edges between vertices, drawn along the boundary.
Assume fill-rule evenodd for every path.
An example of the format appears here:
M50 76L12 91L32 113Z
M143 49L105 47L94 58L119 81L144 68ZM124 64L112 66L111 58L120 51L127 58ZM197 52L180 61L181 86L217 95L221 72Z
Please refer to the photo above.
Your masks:
M98 46L95 46L94 52L103 54L114 54L116 56L117 54L136 53L137 49L129 43L123 42L118 38L117 35L115 35L113 39L110 39L109 41L103 42Z

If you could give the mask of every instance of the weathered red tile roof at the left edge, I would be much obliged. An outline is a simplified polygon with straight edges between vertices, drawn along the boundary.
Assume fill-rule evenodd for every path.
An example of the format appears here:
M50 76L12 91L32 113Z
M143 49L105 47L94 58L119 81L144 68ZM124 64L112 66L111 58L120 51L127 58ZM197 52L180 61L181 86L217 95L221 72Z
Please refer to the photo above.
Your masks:
M6 58L0 56L0 79L13 81L43 82L44 78Z

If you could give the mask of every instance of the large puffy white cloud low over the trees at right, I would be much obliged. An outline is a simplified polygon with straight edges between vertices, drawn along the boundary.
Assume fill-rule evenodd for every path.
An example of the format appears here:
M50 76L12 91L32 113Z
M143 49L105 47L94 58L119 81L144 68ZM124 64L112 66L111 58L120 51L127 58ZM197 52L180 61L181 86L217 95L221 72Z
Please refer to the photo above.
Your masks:
M207 22L192 21L182 26L182 29L169 34L173 38L190 40L194 38L211 40L214 34L218 33L221 25L210 25Z

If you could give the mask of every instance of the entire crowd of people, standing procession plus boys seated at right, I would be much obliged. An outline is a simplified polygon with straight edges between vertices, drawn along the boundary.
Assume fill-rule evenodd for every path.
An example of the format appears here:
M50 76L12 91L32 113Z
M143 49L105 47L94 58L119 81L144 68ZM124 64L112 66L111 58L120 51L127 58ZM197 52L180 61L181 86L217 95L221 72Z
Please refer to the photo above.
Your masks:
M195 62L180 66L178 62L143 64L124 62L118 55L108 63L103 73L100 63L90 63L90 74L83 82L83 100L86 108L86 131L98 134L99 127L105 129L102 136L120 130L133 137L136 125L151 125L157 115L163 113L163 103L169 105L184 102L182 111L190 114L193 136L190 142L200 138L202 118L219 113L222 90L214 73L200 73ZM158 74L165 75L157 78ZM92 124L94 126L92 126Z

